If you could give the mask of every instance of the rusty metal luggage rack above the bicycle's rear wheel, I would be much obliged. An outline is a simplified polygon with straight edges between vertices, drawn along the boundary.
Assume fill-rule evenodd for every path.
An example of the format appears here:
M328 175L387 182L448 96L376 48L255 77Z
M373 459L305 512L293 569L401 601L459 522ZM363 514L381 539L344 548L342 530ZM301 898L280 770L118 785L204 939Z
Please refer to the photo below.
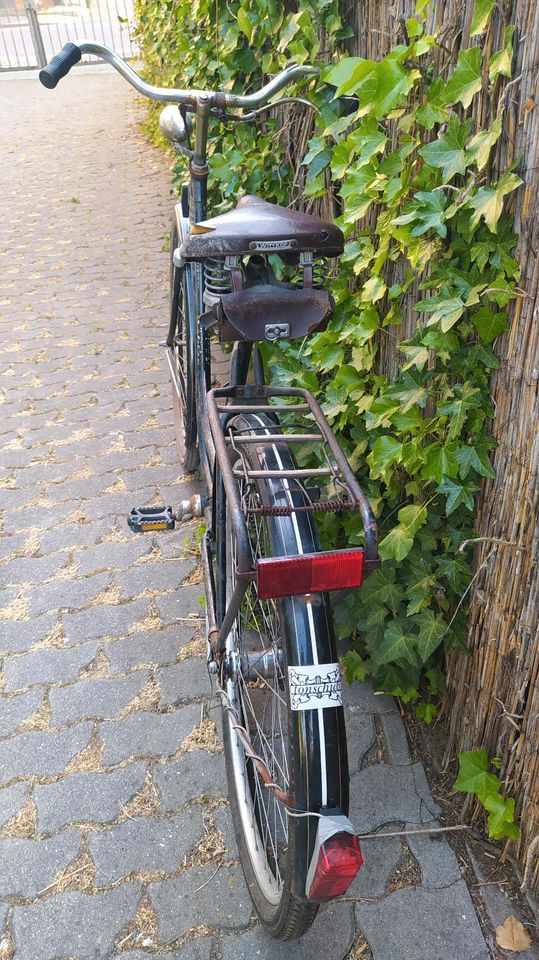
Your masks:
M299 404L269 403L270 399L279 397L283 399L294 397L303 402ZM220 403L219 401L229 402ZM359 486L344 453L337 443L333 431L326 420L319 403L315 400L311 393L309 393L307 390L301 390L296 387L272 387L260 385L219 387L208 391L207 411L209 426L213 437L213 442L215 444L215 455L219 464L221 476L223 478L231 528L233 535L236 538L237 545L236 585L234 587L234 592L228 604L225 617L220 628L217 626L215 621L215 607L212 611L208 610L210 643L214 654L218 654L224 646L226 637L232 629L234 620L236 619L236 615L249 583L256 579L256 571L253 570L252 567L247 521L239 494L239 475L235 473L230 463L228 457L227 439L225 437L226 426L232 417L238 416L238 414L242 413L249 414L256 412L264 412L269 414L310 413L313 416L318 428L318 435L315 435L314 433L304 433L301 435L276 434L275 437L272 436L267 438L268 443L293 443L296 441L302 442L303 440L307 439L309 441L312 439L314 442L315 439L320 439L327 444L337 469L342 476L343 486L347 487L350 491L348 502L342 500L339 501L338 509L341 509L341 507L357 509L361 516L363 529L365 531L363 567L366 576L379 566L380 559L377 552L376 521L374 519L374 514L371 510L370 504L361 487ZM276 426L278 426L278 424L276 424ZM266 438L257 438L258 442L262 442L263 439ZM256 441L253 437L237 437L236 442L240 442L241 444L242 442L253 443ZM328 476L328 474L332 474L333 472L334 471L328 467L320 467L314 470L298 469L293 471L250 470L249 478L256 480L266 477L283 477L299 480L300 478L304 479L307 476ZM329 502L331 503L331 501ZM320 507L322 505L316 506ZM332 509L337 508L332 507ZM212 598L213 584L210 577L210 542L209 540L206 540L206 538L202 545L202 551L205 580L207 580L207 585L211 587L208 596L209 598Z

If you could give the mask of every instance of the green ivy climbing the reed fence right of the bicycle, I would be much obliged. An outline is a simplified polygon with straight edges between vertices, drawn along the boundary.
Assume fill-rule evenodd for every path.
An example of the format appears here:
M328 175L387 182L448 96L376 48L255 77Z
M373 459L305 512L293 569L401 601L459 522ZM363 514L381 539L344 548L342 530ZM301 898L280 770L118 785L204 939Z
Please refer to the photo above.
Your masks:
M346 238L334 318L276 347L272 375L319 396L378 518L382 566L336 607L339 633L352 638L347 677L371 677L431 722L443 654L465 649L471 569L459 548L493 475L489 377L517 293L507 205L521 181L513 169L491 175L503 101L488 126L470 115L484 84L510 75L513 28L501 50L461 50L439 76L426 6L419 0L406 40L371 61L343 56L350 31L336 0L137 0L149 77L163 85L243 91L291 58L322 66L306 155L294 158L276 120L223 128L213 204L230 207L239 190L289 202L298 159L307 201L333 196ZM493 8L477 0L473 35ZM354 514L321 522L330 545L362 541Z

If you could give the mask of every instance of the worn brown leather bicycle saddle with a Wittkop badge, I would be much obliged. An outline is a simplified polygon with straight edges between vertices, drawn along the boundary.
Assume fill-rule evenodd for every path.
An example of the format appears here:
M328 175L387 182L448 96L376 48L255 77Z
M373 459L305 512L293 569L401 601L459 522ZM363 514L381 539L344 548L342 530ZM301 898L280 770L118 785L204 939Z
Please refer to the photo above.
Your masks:
M334 223L247 196L229 213L195 223L180 247L180 255L184 260L203 260L304 251L319 257L338 257L343 245L343 235Z

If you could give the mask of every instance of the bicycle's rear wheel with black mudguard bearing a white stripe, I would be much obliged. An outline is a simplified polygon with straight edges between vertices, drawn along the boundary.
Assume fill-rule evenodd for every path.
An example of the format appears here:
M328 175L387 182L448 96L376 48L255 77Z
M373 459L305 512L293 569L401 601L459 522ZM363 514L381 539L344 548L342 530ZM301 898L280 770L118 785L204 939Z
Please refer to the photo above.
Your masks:
M257 432L260 435L262 423L268 433L275 428L274 421L251 414L235 418L231 425L233 429L241 429L242 433ZM245 444L242 449L249 465L255 469L293 469L295 466L290 449L284 444ZM265 506L305 503L301 487L295 484L292 489L283 479L257 480L251 485L249 496ZM235 583L234 544L229 520L225 519L228 516L226 504L223 508L221 519L224 523L220 524L220 529L224 536L219 537L217 545L220 583L226 584L219 592L221 617ZM219 523L219 506L217 517ZM253 523L258 523L258 528L255 529ZM256 521L251 519L249 531L254 560L262 540L264 549L269 549L266 556L291 556L319 550L313 520L307 512L286 517L258 516ZM258 620L254 621L253 638L253 631L249 631L245 624L255 616ZM258 629L260 622L263 623L262 630ZM259 687L253 694L247 693L250 689L247 682L237 674L234 680L227 679L227 694L235 702L244 726L249 728L254 751L263 754L272 779L279 781L292 794L295 809L317 813L323 807L339 807L347 814L348 763L342 707L292 711L288 693L288 667L335 663L337 660L327 595L262 602L256 598L254 585L250 585L235 628L227 639L228 655L235 650L237 662L242 652L246 652L247 645L252 649L253 639L258 650L274 645L275 639L268 635L275 630L282 649L282 664L274 664L273 680L265 679L262 691ZM227 706L225 702L223 740L232 818L243 872L257 913L268 932L281 940L297 939L311 926L318 911L318 904L305 897L318 819L288 816L274 795L272 800L271 789L261 786L256 767L246 756L234 731L237 717ZM259 721L266 723L269 709L274 718L271 745L273 754L280 751L278 757L270 756L269 747L264 743L269 733L266 734L263 728L259 732L256 728ZM277 714L282 743L278 743L275 733ZM284 775L285 771L287 775ZM268 836L270 829L274 836Z

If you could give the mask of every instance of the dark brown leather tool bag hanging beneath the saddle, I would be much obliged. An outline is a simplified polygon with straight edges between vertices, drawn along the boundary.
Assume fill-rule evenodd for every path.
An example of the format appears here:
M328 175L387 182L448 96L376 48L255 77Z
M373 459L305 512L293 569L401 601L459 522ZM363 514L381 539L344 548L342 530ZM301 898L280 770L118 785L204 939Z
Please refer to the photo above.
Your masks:
M226 293L204 314L206 328L217 324L221 343L231 340L293 340L325 330L334 301L327 290L260 284Z

